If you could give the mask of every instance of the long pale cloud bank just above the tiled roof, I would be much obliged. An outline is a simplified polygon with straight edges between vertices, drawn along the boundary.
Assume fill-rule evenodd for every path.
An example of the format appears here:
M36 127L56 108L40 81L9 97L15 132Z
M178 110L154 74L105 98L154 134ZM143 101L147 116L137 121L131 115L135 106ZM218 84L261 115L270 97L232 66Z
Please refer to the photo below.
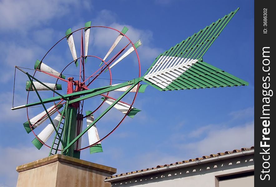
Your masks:
M174 150L171 150L171 145L175 141L170 141L164 137L163 142L160 142L163 150L151 149L150 151L142 152L134 157L124 161L124 165L117 164L117 174L141 170L157 165L165 165L175 163L177 161L194 159L204 155L216 154L218 152L233 151L242 147L254 146L254 123L250 122L239 127L228 128L211 128L208 126L208 134L199 141L192 143L175 144ZM194 134L192 132L191 134ZM170 138L170 137L169 137ZM177 138L176 138L177 139ZM166 143L169 143L168 146ZM172 152L177 152L172 155Z

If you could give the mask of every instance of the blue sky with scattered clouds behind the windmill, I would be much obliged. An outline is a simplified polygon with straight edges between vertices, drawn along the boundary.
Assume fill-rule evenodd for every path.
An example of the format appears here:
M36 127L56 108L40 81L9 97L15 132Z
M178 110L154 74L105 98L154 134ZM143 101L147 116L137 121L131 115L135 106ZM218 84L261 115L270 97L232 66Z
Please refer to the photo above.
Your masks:
M160 92L148 86L145 93L138 94L133 105L142 111L133 119L127 118L101 142L103 153L90 155L89 150L81 152L81 159L115 167L118 173L254 145L254 3L234 0L223 3L178 0L0 1L0 186L14 186L17 165L46 157L49 152L47 147L38 151L32 145L33 135L27 134L22 126L27 121L26 110L10 110L14 65L33 68L35 61L41 59L68 28L76 30L85 22L92 21L92 25L118 30L127 26L129 31L126 35L133 42L141 39L142 46L137 51L141 74L144 74L157 55L237 7L240 10L205 53L203 60L244 79L249 86L173 92ZM116 36L117 33L91 30L88 54L103 58ZM77 34L74 40L79 51L80 38ZM47 57L48 64L56 70L63 69L71 59L66 41ZM87 64L88 71L91 68L92 72L99 62L91 60ZM68 72L75 74L78 70L71 67ZM19 71L16 75L14 105L18 106L26 103L24 88L27 76ZM45 82L51 81L44 75L38 77ZM136 77L134 54L112 71L113 79ZM107 84L108 81L101 79L95 86ZM65 88L63 85L61 93L66 91ZM119 93L111 94L119 96ZM44 92L42 96L47 98L51 94ZM130 102L131 97L133 95L128 95L126 101ZM32 94L30 100L38 99ZM87 100L86 109L93 109L98 102L97 99ZM34 116L39 111L42 108L34 108L30 115ZM100 136L108 133L122 117L120 112L111 110L97 123ZM83 142L87 141L84 137Z

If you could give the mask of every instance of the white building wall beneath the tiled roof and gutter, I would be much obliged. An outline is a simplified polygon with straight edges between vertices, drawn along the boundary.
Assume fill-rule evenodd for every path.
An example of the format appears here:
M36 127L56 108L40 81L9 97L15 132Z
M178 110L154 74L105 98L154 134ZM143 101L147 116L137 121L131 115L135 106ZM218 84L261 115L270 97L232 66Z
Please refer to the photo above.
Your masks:
M111 183L112 187L223 187L217 176L254 170L254 155L236 157ZM254 180L254 178L248 178ZM234 182L234 181L233 181ZM227 182L224 182L226 184ZM253 182L254 183L254 182ZM232 185L233 186L233 185ZM243 185L244 186L244 185ZM252 185L245 185L252 186Z

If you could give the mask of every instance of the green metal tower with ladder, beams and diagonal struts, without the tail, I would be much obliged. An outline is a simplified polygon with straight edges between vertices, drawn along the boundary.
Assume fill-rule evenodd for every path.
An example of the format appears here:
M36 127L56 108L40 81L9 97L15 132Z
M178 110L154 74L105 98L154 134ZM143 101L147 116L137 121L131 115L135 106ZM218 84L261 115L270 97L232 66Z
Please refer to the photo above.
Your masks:
M80 91L80 92L75 92L75 93L70 93L70 94L66 94L66 95L61 95L60 93L57 93L55 90L49 88L47 85L43 84L41 81L37 80L36 78L34 78L33 76L31 76L30 74L28 74L27 72L21 70L20 68L16 67L17 69L19 69L20 71L22 71L23 73L25 73L28 78L31 81L31 85L33 86L33 88L35 89L37 96L40 100L40 102L35 102L35 103L30 103L30 104L26 104L24 106L22 106L22 108L27 108L30 106L36 106L39 104L42 104L44 110L47 113L47 116L49 117L54 130L56 132L55 135L55 139L58 137L58 143L57 143L57 148L54 148L55 145L55 139L52 142L52 146L51 146L51 151L49 153L49 156L52 155L52 151L55 150L55 154L57 153L57 149L58 146L60 144L60 142L62 143L62 154L63 155L67 155L67 156L71 156L71 157L75 157L75 158L79 158L80 154L79 151L74 151L74 143L84 134L86 133L97 121L99 121L116 103L118 103L127 93L129 93L131 91L131 89L133 89L137 84L139 84L142 80L140 78L136 78L136 79L132 79L130 81L126 81L124 83L121 84L117 84L115 86L105 86L105 87L100 87L100 88L96 88L96 89L91 89L91 90L84 90L84 91ZM41 83L42 85L46 86L48 89L52 90L53 92L57 93L59 96L57 97L52 97L52 98L47 98L47 99L43 99L40 97L36 87L33 84L32 79L35 79L37 82ZM82 101L84 99L87 98L91 98L94 97L96 95L100 95L106 92L110 92L112 90L115 89L119 89L125 86L131 85L119 98L116 99L115 102L113 102L105 111L103 111L88 127L86 127L77 137L75 137L75 130L76 130L76 108L74 107L70 107L69 104L71 103L75 103L75 102L79 102ZM81 96L80 98L76 98L73 100L69 100L69 97L72 96ZM66 100L66 106L62 111L62 117L59 121L58 124L58 128L55 127L52 118L50 117L47 108L45 107L45 103L49 103L49 102L53 102L53 101L58 101L61 99L61 97ZM19 108L17 108L19 109ZM62 132L59 133L57 129L59 129L61 121L63 116L65 116L65 121L64 121L64 125L62 128ZM61 137L62 136L62 137Z

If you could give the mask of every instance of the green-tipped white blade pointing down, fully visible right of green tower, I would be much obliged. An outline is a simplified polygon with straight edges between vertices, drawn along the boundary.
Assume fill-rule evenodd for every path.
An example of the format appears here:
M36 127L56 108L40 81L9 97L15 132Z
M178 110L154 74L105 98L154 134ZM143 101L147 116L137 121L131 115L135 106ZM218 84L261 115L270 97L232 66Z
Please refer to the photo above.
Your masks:
M86 115L89 115L86 117L86 123L88 127L94 121L94 117L93 117L92 111L86 111ZM89 145L92 145L97 141L99 141L96 145L90 147L90 154L103 152L96 123L88 130L88 140L89 140Z

